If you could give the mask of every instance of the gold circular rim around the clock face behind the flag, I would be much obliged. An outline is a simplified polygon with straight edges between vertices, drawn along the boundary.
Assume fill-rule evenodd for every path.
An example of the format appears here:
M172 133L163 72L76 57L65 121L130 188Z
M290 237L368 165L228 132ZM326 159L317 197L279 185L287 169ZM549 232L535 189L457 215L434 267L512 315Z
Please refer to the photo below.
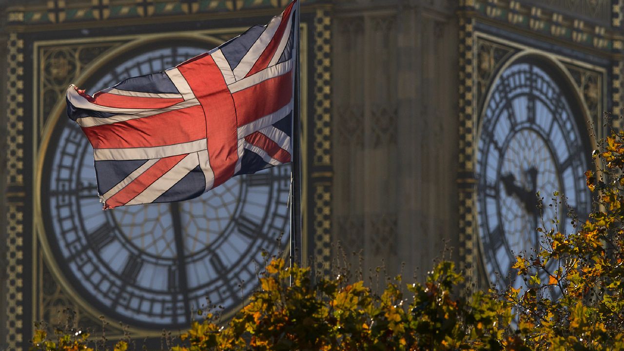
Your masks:
M232 29L232 32L235 31L236 29ZM178 47L184 45L195 47L202 46L206 47L207 51L208 49L211 49L212 47L215 47L222 42L222 39L195 33L175 33L164 36L162 34L148 35L142 37L134 36L130 37L129 39L130 41L127 44L120 45L119 47L112 49L110 52L105 53L95 59L95 61L90 64L89 68L82 72L82 74L80 74L80 76L77 77L77 79L74 81L77 86L89 86L90 84L94 84L94 80L98 76L103 76L103 71L105 67L114 67L114 65L117 63L127 61L127 59L129 58L127 56L128 52L139 51L137 52L137 54L140 54L141 52L152 51L154 49L158 49L159 47L167 47L167 43L170 43L173 40L175 40L177 44L176 46ZM131 55L131 57L132 56L137 55ZM174 62L173 64L176 63L179 62ZM62 288L72 296L72 300L75 300L82 309L87 311L95 318L97 318L97 316L99 315L104 314L107 318L112 317L113 319L119 319L120 316L118 314L111 314L110 311L102 311L102 307L105 306L99 304L97 301L94 302L94 300L90 299L88 295L85 297L84 291L79 292L82 287L76 285L76 279L67 277L66 272L61 269L59 262L57 262L57 260L59 259L59 254L58 252L55 252L56 250L52 249L53 245L51 245L51 242L49 242L48 239L49 235L47 235L47 231L52 230L52 226L50 224L48 214L44 214L44 212L46 212L46 202L48 202L49 200L43 197L45 194L47 194L47 192L45 189L42 190L42 186L46 186L46 182L48 182L50 179L47 173L51 169L52 161L49 158L51 158L51 155L54 155L54 152L52 152L51 154L51 151L49 151L49 147L52 144L56 144L57 139L61 135L61 132L59 132L59 130L63 129L62 126L64 126L64 124L59 123L59 120L61 120L64 115L64 105L64 101L57 102L56 106L54 106L54 108L52 109L52 113L50 114L48 121L46 121L46 125L44 126L42 132L42 142L38 152L38 159L36 163L36 179L33 189L35 199L34 210L36 212L36 218L38 219L35 223L37 228L37 236L39 238L39 242L41 242L41 249L44 254L44 259L46 260L48 267L50 267L52 275L54 275L54 279L59 282ZM245 189L242 189L240 187L239 190L245 191ZM236 207L238 207L238 204L236 204ZM228 226L231 227L231 223L228 223ZM249 284L255 285L255 282L250 281ZM235 313L235 311L239 309L243 303L244 301L238 303L238 305L230 306L230 309L228 309L227 312L223 314L223 317L226 319L230 317L230 315ZM189 321L190 319L185 320L183 323L172 323L170 327L184 327L184 325L187 324ZM162 330L163 325L150 324L149 322L130 323L129 327L130 331L133 332L135 335L157 336L160 335L160 330Z

